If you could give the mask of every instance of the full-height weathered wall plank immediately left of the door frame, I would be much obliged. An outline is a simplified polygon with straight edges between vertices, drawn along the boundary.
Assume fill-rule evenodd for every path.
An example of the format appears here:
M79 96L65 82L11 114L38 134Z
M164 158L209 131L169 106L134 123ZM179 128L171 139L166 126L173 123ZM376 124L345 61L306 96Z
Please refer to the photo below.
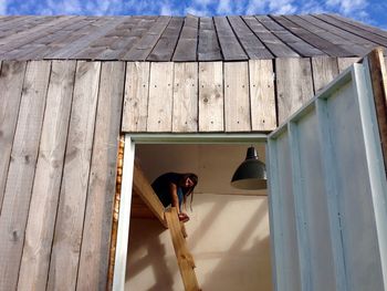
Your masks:
M77 290L106 290L125 63L104 62Z

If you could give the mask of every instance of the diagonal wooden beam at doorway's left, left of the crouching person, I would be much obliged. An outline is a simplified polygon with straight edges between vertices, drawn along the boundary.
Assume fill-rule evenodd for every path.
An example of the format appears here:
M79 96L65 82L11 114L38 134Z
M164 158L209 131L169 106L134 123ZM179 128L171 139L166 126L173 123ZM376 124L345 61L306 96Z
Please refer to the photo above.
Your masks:
M136 194L143 198L144 202L155 214L158 220L165 228L168 228L166 220L164 219L164 206L154 193L149 181L145 177L143 170L135 165L133 177L133 189Z

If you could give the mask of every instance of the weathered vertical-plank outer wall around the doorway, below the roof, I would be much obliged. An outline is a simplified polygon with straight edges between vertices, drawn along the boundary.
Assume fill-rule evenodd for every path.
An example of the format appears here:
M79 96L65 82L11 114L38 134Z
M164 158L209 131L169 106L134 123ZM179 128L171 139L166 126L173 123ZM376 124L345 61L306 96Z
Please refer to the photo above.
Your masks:
M354 61L2 61L0 290L105 290L121 131L270 132Z

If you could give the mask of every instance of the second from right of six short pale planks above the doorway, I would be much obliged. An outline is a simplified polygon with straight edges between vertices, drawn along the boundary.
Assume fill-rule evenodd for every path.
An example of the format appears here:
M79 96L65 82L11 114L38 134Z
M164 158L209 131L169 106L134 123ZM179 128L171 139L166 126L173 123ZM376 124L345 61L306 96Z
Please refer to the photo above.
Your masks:
M226 132L251 131L248 62L224 63Z

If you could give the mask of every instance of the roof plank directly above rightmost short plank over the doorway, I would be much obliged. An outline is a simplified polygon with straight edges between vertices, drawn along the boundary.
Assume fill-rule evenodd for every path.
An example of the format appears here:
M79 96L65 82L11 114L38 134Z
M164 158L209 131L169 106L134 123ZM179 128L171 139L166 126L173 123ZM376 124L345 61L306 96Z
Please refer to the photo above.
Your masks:
M228 17L228 19L250 59L273 59L270 51L249 29L241 17Z

